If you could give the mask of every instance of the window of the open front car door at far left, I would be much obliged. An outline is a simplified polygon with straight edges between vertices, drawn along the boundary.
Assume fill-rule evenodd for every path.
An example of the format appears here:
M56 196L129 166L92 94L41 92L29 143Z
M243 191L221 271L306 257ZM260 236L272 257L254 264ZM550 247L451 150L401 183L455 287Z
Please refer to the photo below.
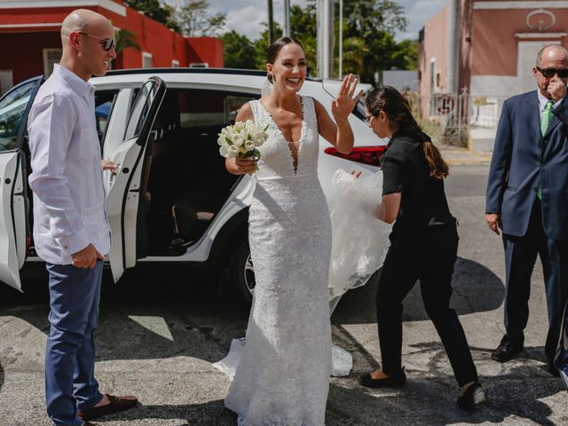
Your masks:
M18 131L24 120L26 106L36 87L36 81L22 84L0 100L0 151L16 147Z

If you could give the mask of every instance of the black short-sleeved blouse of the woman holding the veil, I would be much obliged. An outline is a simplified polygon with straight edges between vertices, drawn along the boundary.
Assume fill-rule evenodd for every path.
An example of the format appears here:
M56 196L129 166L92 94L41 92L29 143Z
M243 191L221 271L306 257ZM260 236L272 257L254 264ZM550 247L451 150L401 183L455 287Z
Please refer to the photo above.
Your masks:
M398 130L383 154L383 195L402 193L393 232L407 228L454 224L447 206L444 179L430 177L418 135Z

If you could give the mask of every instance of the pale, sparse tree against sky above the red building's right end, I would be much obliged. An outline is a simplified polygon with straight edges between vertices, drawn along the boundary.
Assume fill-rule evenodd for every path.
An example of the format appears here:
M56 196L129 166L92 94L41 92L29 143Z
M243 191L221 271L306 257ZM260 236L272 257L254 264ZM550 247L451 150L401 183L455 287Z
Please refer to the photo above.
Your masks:
M187 37L218 36L225 28L225 13L209 12L208 0L183 0L173 18Z

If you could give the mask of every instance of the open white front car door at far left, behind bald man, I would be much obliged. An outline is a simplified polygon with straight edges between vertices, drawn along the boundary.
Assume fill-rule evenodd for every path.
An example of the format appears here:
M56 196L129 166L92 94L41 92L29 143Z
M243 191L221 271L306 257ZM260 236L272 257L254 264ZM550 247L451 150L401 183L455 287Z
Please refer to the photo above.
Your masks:
M0 280L21 291L20 269L26 260L28 195L26 155L28 114L43 77L21 83L0 99Z

